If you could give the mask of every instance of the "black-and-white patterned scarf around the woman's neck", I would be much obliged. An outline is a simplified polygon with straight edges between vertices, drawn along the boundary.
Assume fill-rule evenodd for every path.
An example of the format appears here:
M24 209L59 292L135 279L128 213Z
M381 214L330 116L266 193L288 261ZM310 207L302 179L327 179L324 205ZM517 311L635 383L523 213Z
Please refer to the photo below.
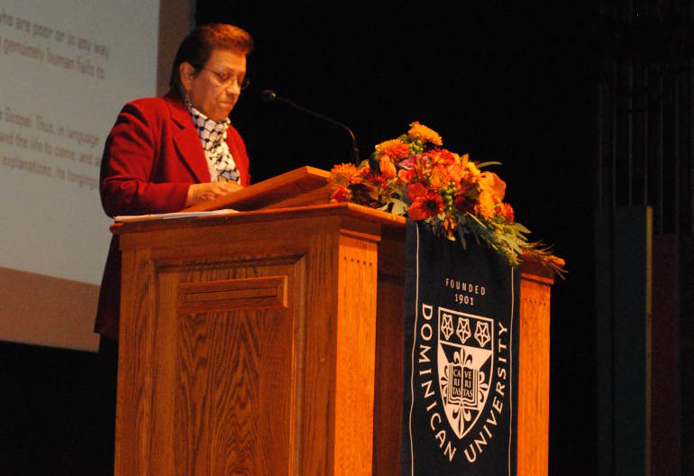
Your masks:
M205 150L207 168L210 170L210 177L213 182L233 181L241 183L239 171L233 161L232 152L226 143L226 131L229 129L231 121L225 118L224 121L216 123L205 114L198 111L189 101L186 101L193 123L196 124L197 134Z

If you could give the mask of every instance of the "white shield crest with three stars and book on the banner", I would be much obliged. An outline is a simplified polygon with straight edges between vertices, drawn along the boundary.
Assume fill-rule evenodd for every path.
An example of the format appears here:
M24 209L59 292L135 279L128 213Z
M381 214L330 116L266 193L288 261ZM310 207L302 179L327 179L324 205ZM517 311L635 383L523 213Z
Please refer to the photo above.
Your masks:
M439 307L438 380L445 415L466 435L489 397L494 371L494 321Z

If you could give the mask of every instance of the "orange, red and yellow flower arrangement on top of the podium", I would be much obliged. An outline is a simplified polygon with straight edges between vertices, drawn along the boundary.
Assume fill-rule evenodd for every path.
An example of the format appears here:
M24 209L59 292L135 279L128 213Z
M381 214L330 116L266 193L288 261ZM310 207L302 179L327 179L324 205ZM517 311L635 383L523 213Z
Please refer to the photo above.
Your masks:
M448 151L438 133L415 122L407 133L380 142L359 167L333 167L331 201L408 216L430 224L439 236L457 238L463 248L473 237L511 266L529 255L563 277L563 261L542 243L528 242L530 231L516 223L513 207L504 202L506 183L483 170L490 165L500 164Z

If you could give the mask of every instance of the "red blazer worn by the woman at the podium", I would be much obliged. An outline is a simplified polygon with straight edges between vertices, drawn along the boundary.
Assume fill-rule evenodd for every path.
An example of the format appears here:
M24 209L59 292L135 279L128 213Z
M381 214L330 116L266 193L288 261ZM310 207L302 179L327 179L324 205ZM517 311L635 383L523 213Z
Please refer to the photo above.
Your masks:
M251 182L246 147L229 127L226 142L245 187ZM138 99L123 106L101 161L101 203L106 215L177 212L190 184L210 181L205 151L180 96ZM111 240L96 310L95 332L118 339L121 253Z

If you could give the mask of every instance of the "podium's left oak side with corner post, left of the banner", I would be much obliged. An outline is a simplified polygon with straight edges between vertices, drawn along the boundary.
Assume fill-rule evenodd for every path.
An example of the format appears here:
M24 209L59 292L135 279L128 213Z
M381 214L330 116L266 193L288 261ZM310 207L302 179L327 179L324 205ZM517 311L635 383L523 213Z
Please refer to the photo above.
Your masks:
M116 474L370 473L379 225L319 215L118 231Z

